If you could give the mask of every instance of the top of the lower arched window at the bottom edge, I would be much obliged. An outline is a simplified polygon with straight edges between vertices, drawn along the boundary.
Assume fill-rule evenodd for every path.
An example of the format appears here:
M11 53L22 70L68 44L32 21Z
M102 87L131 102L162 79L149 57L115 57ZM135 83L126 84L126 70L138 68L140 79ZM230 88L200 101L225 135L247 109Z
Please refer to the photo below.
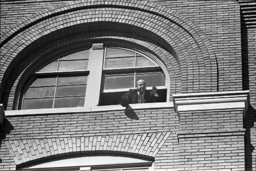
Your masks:
M77 156L73 158L59 158L50 161L38 162L20 167L19 170L132 170L150 171L153 161L131 158L126 156Z

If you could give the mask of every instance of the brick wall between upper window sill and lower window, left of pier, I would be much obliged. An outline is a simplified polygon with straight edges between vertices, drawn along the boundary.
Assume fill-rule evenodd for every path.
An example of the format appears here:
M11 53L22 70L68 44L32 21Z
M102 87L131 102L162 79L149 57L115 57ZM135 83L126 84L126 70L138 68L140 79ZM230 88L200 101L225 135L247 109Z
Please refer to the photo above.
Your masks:
M137 117L134 117L134 115ZM48 150L46 151L46 149L42 149L44 145L40 142L49 144L49 141L54 140L57 143L57 139L63 142L67 140L72 140L72 142L76 141L76 144L80 142L80 146L81 138L93 139L92 141L90 140L90 142L93 143L84 143L84 148L86 146L88 147L86 150L82 150L82 148L77 147L76 144L72 144L72 148L69 146L70 149L73 150L72 152L79 151L78 153L81 152L84 155L91 151L91 148L95 146L94 143L96 143L97 147L97 141L99 140L98 138L100 138L102 142L100 140L99 144L103 144L104 149L107 148L110 151L116 151L118 147L126 147L124 145L120 146L120 144L126 144L127 148L121 148L120 152L125 152L126 155L130 155L131 157L151 157L151 159L155 159L156 163L161 164L163 157L173 156L177 158L177 131L179 130L179 121L174 109L134 110L132 113L110 111L65 115L16 116L8 117L7 119L8 122L0 126L0 132L2 133L1 139L5 140L2 141L0 154L6 154L2 158L5 162L0 163L0 169L13 169L16 167L16 164L22 166L28 164L28 162L32 162L32 160L35 162L42 158L50 159L50 154L53 152L51 152L51 150L49 152ZM108 140L106 140L107 137ZM135 146L130 146L129 144L134 144L134 142L129 141L124 143L124 141L121 141L122 138L127 139L127 137L134 142L137 141L135 144L138 144L140 147L133 149ZM142 137L145 139L142 139ZM77 139L79 139L79 141ZM103 140L109 143L104 143ZM119 145L117 145L117 142ZM33 143L36 144L36 146ZM8 149L5 148L5 144ZM63 145L61 146L59 142L58 144L60 145L59 147L57 145L54 147L54 155L56 155L56 158L63 155L65 156L62 149ZM94 145L92 145L89 150L90 144ZM100 145L100 148L101 146L102 145ZM169 154L168 152L171 147L176 149ZM144 151L134 153L137 152L137 149L144 149ZM161 152L159 152L160 150ZM13 159L16 155L19 157ZM7 160L12 160L12 163L6 165ZM13 161L15 161L15 163ZM177 166L176 160L171 162L171 160L168 159L167 161L165 167L171 168ZM164 167L164 164L162 164L161 167Z

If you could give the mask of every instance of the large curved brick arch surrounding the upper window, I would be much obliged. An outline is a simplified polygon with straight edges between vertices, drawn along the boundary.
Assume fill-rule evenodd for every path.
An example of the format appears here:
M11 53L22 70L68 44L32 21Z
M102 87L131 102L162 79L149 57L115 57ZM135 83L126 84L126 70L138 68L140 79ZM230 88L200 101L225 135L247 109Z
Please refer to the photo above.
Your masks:
M18 22L3 32L1 49L7 60L3 62L0 92L3 92L9 74L20 59L27 55L29 48L37 48L46 43L50 33L54 31L58 30L58 35L61 36L63 28L76 26L79 29L81 23L98 22L112 25L122 23L127 28L136 26L148 30L151 33L150 39L157 37L156 41L161 47L173 54L180 63L182 92L217 91L217 65L209 41L186 18L157 5L116 1L67 3L33 14L22 22L24 23ZM17 27L12 29L15 26ZM106 29L108 27L109 25ZM122 31L124 28L119 29ZM45 37L44 41L34 44L42 37Z

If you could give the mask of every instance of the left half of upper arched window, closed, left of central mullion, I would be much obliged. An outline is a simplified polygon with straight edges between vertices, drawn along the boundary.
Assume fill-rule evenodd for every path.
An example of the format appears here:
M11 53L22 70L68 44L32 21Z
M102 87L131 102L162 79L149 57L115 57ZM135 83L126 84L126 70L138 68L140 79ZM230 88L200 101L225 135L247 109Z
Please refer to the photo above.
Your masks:
M88 80L89 50L59 57L27 81L21 109L84 106Z

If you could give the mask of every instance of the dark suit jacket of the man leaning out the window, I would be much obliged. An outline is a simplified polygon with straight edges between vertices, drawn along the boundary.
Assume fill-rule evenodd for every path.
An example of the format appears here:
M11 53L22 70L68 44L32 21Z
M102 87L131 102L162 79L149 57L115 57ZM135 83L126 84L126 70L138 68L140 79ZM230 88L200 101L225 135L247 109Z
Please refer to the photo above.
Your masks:
M137 89L130 89L127 93L125 93L121 99L120 104L124 107L127 107L129 104L138 103L138 91ZM157 97L154 96L152 91L146 90L144 94L144 103L153 103L157 102Z

